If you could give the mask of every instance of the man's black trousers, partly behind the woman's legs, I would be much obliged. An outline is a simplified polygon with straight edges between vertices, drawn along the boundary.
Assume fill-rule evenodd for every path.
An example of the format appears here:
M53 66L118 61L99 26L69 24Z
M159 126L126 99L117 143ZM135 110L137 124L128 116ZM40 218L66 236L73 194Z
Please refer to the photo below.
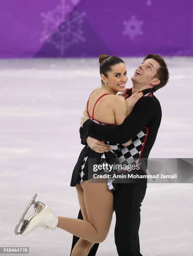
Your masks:
M114 229L114 239L119 256L142 256L140 253L140 207L145 197L147 185L136 183L117 184L117 191L113 192L114 211L116 214L116 224ZM81 210L78 219L83 220ZM78 237L73 236L72 249ZM98 243L91 248L88 256L95 256ZM108 256L108 254L107 254Z

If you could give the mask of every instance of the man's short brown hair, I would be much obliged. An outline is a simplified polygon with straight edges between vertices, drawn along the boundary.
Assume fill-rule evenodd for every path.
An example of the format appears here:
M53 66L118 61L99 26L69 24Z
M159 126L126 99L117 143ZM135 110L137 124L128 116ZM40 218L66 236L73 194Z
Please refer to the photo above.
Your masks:
M164 87L165 84L167 84L170 74L168 72L168 67L166 63L162 56L160 56L160 54L148 54L144 58L144 61L146 59L155 59L155 61L157 61L160 64L160 67L157 69L157 74L155 74L155 77L160 80L160 84L157 84L153 87L153 91L155 92L158 89Z

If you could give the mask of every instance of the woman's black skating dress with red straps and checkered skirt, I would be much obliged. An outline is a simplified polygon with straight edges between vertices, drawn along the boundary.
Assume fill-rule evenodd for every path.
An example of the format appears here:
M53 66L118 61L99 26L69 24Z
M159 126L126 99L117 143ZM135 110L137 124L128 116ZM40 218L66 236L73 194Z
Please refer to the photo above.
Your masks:
M94 91L93 91L94 92ZM92 93L91 93L92 94ZM98 100L95 102L94 104L94 108L97 104L97 102L99 102L99 100L106 96L109 95L110 93L105 93L103 95L101 95ZM90 97L89 97L90 99ZM89 108L89 99L87 101L87 112L88 108ZM102 123L99 120L94 119L94 108L92 111L92 116L90 117L90 119L95 122L98 123L100 125L108 125L106 123ZM116 123L114 124L116 125ZM94 159L94 161L96 161L97 164L102 164L102 163L108 163L108 164L115 164L115 159L117 159L117 154L119 152L119 144L111 144L108 141L105 141L106 144L108 144L111 147L111 150L109 150L109 152L105 152L104 154L100 154L97 153L95 151L93 151L91 148L89 148L89 146L85 146L82 151L81 154L79 155L79 159L74 167L74 171L72 173L72 178L71 178L71 187L75 187L76 183L81 183L84 182L85 180L91 179L92 177L89 176L89 164L88 164L88 159ZM100 174L103 171L100 171ZM104 170L105 172L105 170ZM114 170L112 171L114 172ZM111 172L111 174L112 174ZM106 173L106 172L105 172ZM113 183L115 179L108 179L107 180L107 187L111 190L117 189L117 184Z

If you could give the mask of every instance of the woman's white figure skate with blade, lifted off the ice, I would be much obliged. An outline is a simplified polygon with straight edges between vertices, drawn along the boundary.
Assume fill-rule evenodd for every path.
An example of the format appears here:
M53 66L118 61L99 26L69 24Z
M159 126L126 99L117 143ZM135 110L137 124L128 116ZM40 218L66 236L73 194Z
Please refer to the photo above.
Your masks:
M28 206L26 207L23 215L21 216L18 225L15 227L15 235L27 236L31 231L35 228L43 227L44 230L55 230L58 225L58 216L53 212L51 207L42 202L36 202L35 199L37 194L35 194L30 200ZM28 212L31 205L34 205L35 212L30 215L26 220L24 219L25 214ZM20 224L21 226L20 232L18 232L18 228Z

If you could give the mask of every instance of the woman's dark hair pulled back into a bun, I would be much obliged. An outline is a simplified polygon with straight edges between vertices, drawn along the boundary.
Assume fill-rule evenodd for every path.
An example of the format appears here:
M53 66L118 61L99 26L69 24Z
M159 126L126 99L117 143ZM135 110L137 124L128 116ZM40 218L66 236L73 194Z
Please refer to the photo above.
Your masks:
M104 74L105 77L108 77L107 72L111 71L111 67L119 63L124 63L124 61L117 56L109 56L107 54L101 54L99 57L99 63L100 63L100 74Z

